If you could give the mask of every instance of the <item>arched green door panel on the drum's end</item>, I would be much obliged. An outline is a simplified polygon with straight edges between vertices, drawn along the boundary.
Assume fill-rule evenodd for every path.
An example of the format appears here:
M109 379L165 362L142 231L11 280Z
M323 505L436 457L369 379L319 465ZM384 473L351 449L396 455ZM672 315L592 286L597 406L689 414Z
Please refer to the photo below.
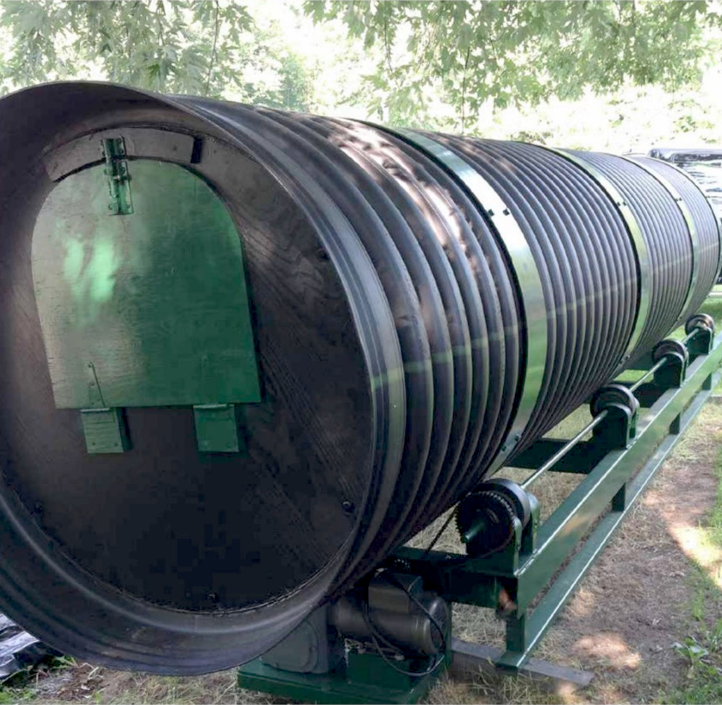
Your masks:
M240 238L180 165L129 160L134 212L109 215L103 165L58 183L32 276L59 408L258 402Z

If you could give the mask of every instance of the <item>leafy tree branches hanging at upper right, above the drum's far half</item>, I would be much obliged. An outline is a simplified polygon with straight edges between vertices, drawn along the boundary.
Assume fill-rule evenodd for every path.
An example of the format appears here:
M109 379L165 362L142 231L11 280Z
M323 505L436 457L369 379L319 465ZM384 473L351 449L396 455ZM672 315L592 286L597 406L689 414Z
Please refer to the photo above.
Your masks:
M614 90L625 82L668 88L699 77L704 1L307 1L317 22L340 18L383 57L369 77L370 108L423 122L434 90L462 131L490 101L539 103Z

